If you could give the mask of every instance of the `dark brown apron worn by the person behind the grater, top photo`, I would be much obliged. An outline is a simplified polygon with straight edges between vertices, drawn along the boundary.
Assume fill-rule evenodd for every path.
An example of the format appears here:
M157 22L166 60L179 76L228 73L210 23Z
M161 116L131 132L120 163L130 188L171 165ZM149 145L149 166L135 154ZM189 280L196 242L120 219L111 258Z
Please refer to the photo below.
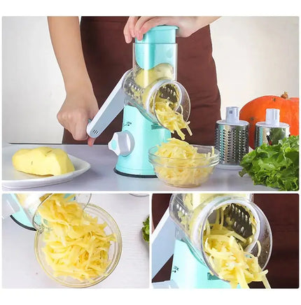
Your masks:
M80 22L83 53L94 94L99 107L125 71L132 68L132 43L125 43L123 28L127 17L82 17ZM194 144L214 144L214 128L221 119L221 97L212 58L209 26L188 38L177 38L178 81L186 87L191 101L190 128L186 141ZM97 138L97 144L108 143L122 127L122 113ZM75 141L65 129L63 143Z

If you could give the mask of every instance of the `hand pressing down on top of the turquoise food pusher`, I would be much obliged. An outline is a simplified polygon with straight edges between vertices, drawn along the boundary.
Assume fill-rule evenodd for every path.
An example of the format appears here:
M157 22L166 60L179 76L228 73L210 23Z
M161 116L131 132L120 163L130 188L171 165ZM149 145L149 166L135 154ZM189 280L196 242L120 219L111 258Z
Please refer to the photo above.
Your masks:
M176 31L176 36L188 37L195 33L195 31L205 27L211 22L214 22L216 19L218 19L218 17L213 16L131 16L125 24L123 34L125 35L125 42L131 43L132 38L137 38L139 41L141 41L144 34L146 34L146 32L153 27L157 27L158 25L174 25L179 27L179 29Z

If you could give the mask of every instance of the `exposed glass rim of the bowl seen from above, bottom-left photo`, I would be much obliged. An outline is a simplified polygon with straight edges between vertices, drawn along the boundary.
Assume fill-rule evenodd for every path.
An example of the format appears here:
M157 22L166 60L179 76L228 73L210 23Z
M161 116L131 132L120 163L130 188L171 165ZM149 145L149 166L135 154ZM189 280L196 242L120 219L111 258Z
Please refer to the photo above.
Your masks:
M111 215L94 204L87 204L87 206L82 204L82 206L85 208L85 213L92 215L92 217L97 217L99 223L106 222L107 226L104 228L106 234L115 234L116 236L116 241L111 241L111 246L109 248L109 265L105 274L102 274L97 278L93 278L90 281L79 281L71 276L54 276L53 270L46 262L45 254L42 250L45 246L45 242L43 241L43 232L37 231L34 239L34 251L36 253L36 259L38 260L38 263L41 265L42 269L50 278L52 278L52 280L70 288L86 288L104 281L104 279L107 278L116 268L122 251L123 243L120 229Z

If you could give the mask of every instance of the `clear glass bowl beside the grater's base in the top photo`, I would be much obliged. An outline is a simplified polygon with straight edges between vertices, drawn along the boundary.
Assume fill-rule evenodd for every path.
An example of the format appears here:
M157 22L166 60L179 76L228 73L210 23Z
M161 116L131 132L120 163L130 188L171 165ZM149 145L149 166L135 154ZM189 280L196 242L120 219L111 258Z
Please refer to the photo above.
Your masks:
M197 152L207 157L179 159L155 155L158 147L148 150L148 160L153 164L158 178L167 185L176 187L195 187L205 183L219 162L219 152L214 146L193 145ZM214 154L211 152L214 149Z

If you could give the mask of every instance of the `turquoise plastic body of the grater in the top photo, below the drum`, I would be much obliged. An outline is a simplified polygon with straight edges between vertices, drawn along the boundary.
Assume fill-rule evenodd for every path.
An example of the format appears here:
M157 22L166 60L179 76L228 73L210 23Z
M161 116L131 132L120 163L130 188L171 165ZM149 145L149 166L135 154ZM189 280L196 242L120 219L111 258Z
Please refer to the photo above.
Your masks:
M153 165L148 161L148 150L166 142L171 137L169 130L154 125L130 105L125 105L123 110L122 130L134 137L134 149L130 155L118 156L116 170L130 176L155 176Z

